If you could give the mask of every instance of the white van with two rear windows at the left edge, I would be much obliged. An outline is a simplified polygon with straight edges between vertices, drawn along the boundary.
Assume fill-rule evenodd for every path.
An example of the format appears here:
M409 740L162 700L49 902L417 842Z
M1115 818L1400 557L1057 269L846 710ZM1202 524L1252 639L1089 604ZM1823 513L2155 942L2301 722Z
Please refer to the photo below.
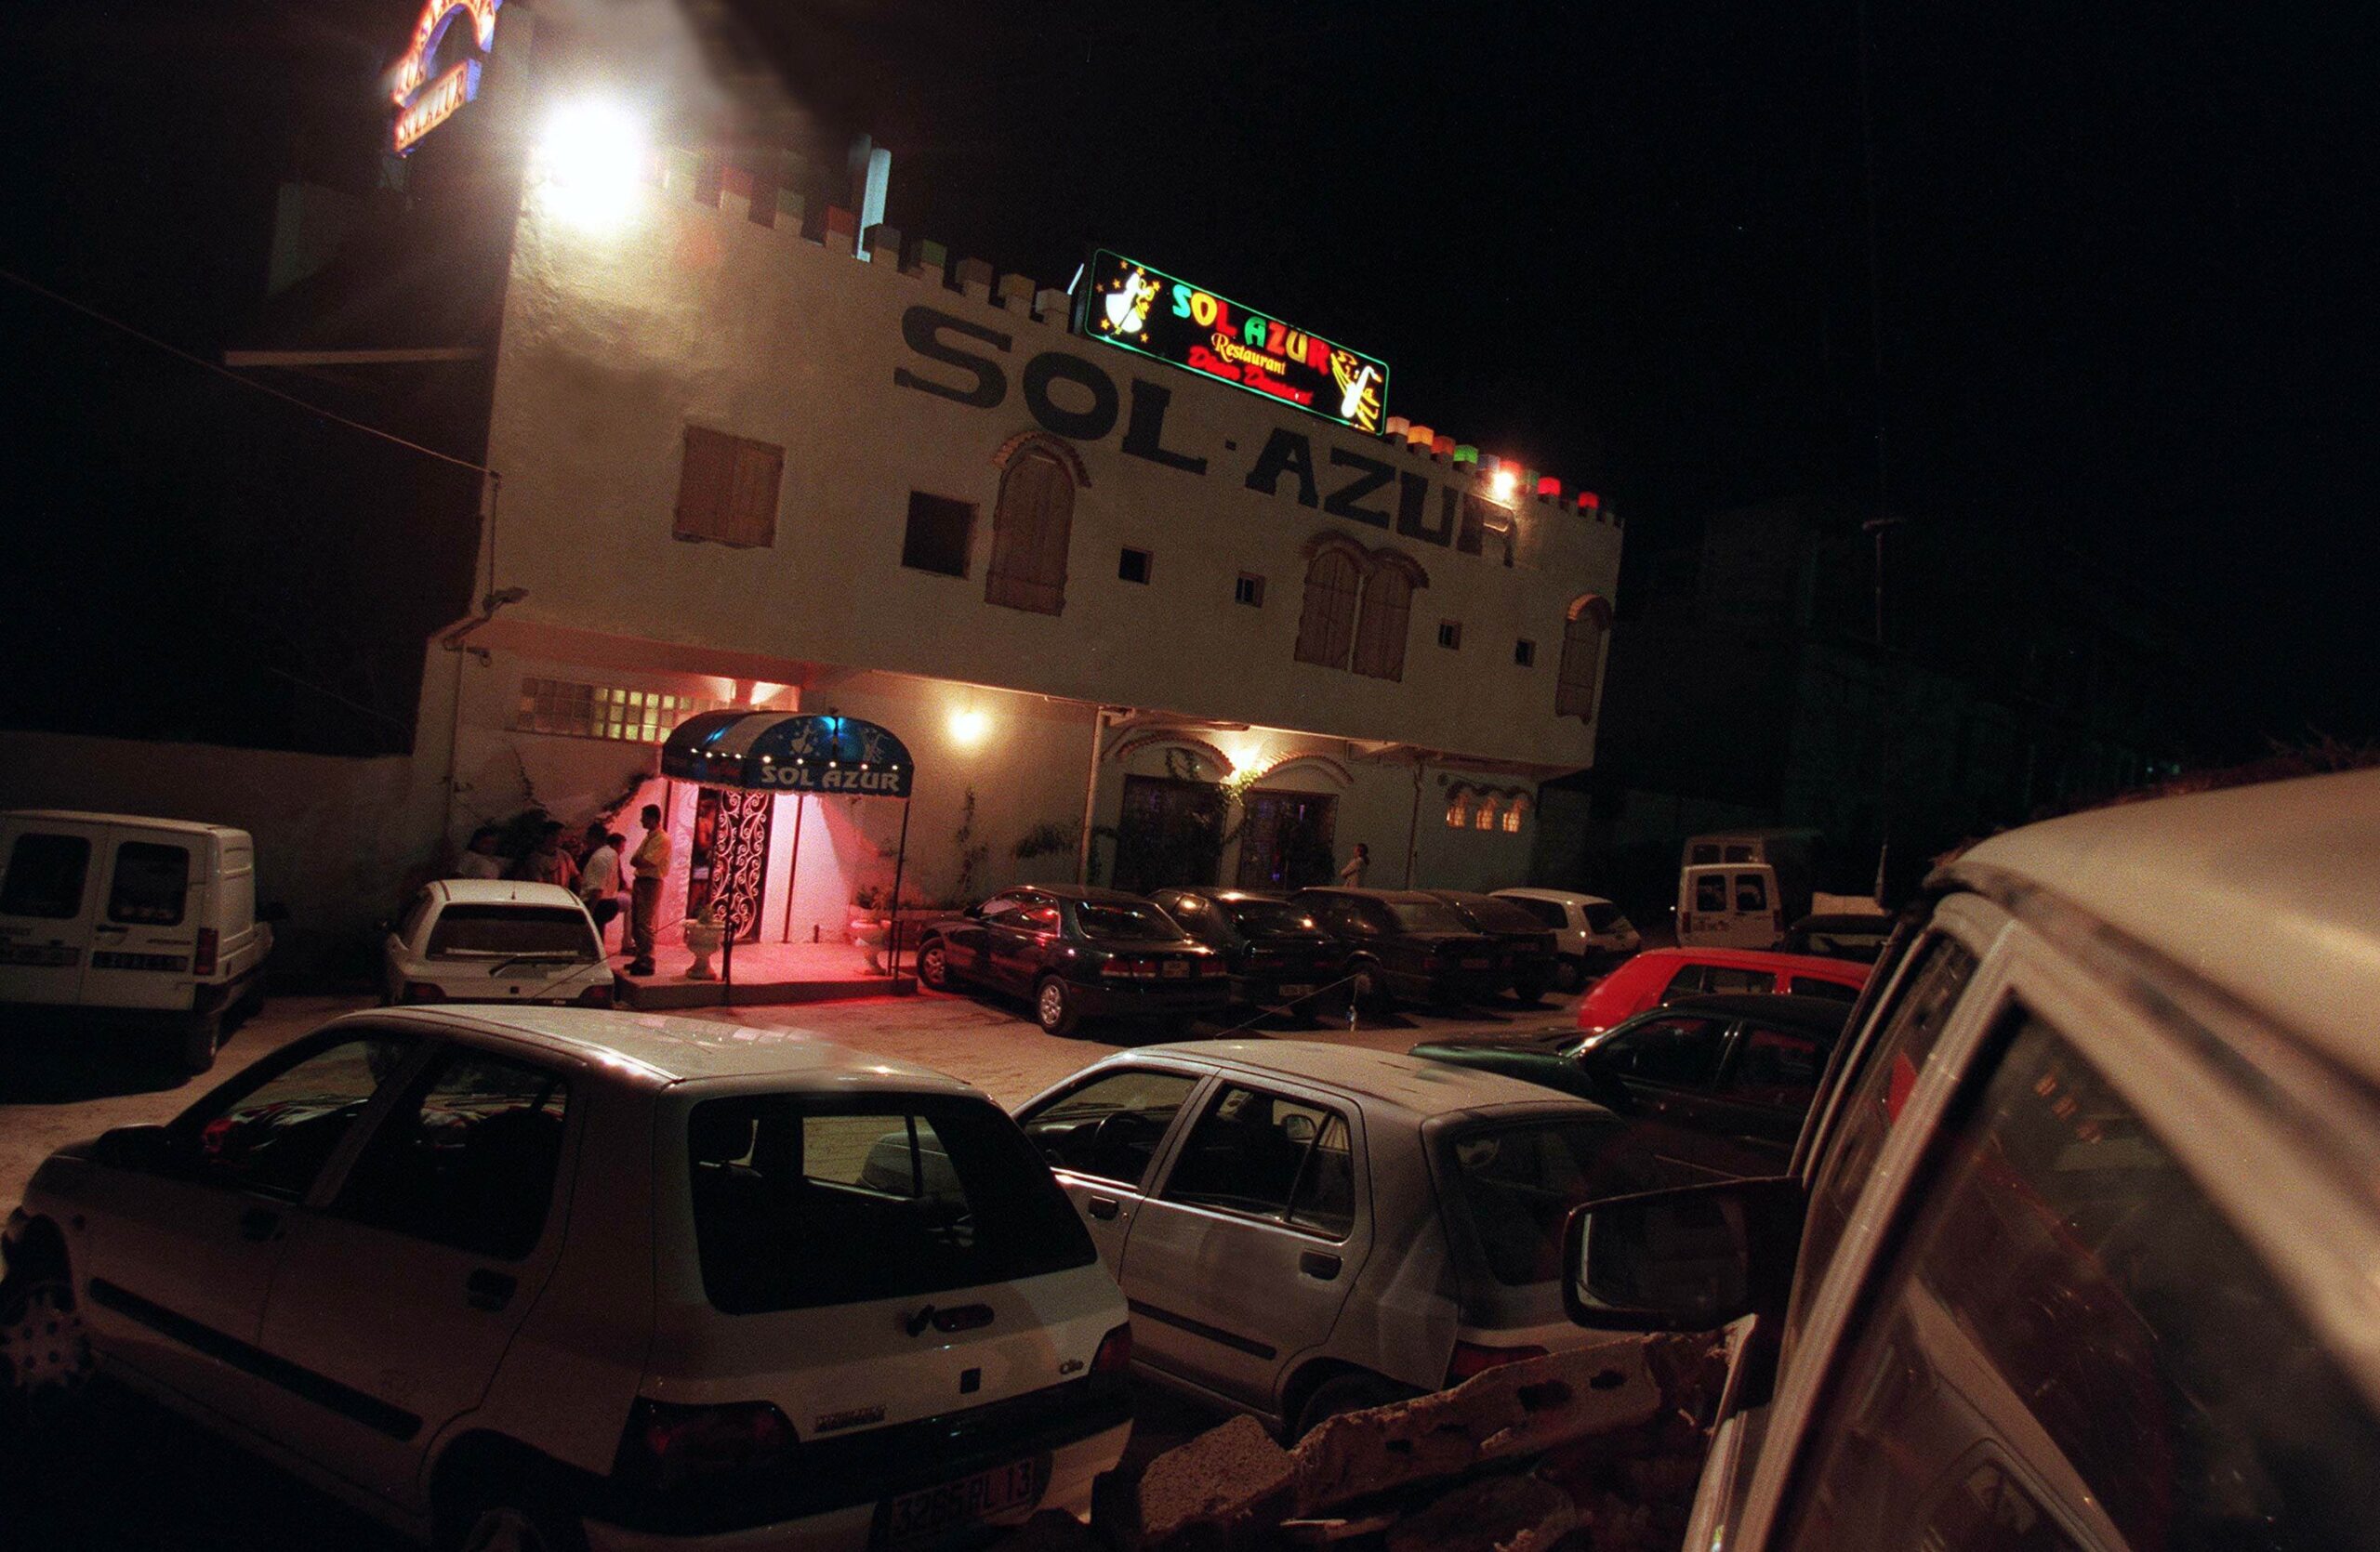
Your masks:
M109 1014L214 1066L226 1014L262 997L248 831L188 819L0 812L0 1009Z

